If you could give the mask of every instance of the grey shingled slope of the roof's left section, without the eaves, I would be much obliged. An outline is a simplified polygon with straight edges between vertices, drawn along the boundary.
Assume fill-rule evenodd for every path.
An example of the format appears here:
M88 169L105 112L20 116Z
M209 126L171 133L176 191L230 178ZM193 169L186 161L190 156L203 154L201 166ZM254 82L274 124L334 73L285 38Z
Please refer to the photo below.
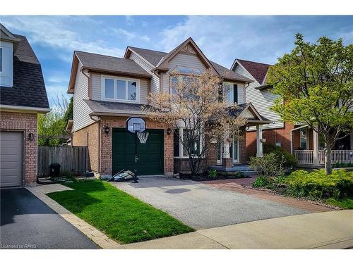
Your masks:
M83 64L83 68L151 77L150 73L129 58L92 54L84 51L75 51L75 54Z

